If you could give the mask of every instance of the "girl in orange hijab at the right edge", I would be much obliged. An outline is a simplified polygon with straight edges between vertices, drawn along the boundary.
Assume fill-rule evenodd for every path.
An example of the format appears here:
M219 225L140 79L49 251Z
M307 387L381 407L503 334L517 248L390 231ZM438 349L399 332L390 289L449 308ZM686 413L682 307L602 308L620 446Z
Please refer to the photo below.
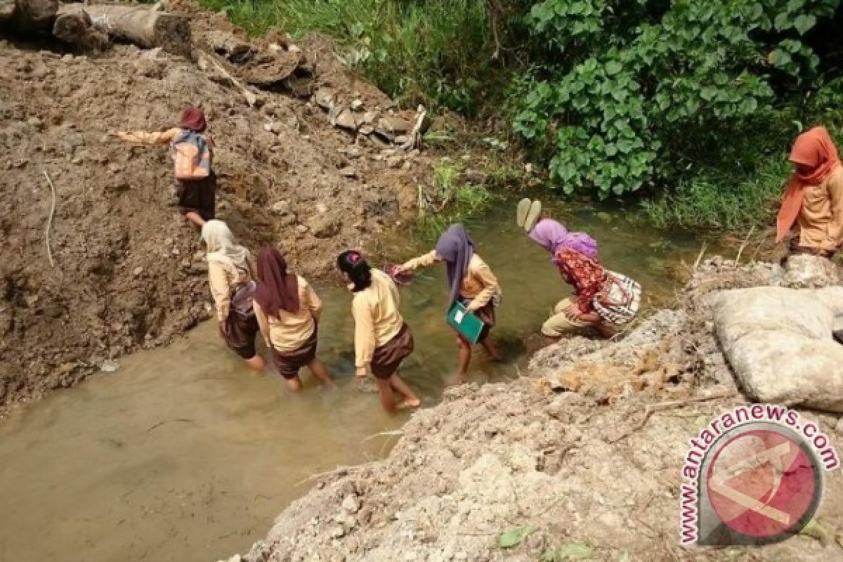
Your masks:
M792 254L830 258L843 244L843 167L825 127L797 136L790 158L795 166L776 218L776 242L796 230Z

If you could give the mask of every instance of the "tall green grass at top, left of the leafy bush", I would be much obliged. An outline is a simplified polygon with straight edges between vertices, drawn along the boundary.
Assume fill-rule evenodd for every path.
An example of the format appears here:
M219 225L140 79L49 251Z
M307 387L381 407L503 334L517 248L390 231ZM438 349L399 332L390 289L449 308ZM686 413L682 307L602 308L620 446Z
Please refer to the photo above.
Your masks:
M492 58L487 4L476 0L200 0L251 35L273 27L294 37L330 35L346 65L405 107L430 104L476 115L491 83L504 83Z

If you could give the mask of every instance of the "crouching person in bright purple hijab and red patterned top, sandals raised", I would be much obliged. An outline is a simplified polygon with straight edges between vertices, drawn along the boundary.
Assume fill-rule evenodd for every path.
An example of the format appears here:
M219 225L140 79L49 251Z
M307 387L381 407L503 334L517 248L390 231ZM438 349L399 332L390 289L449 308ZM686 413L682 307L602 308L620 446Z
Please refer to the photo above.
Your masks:
M604 337L634 318L641 304L641 286L629 277L609 271L597 259L597 242L586 233L568 232L560 222L540 218L539 201L518 204L516 221L529 238L553 256L551 261L574 289L574 299L556 303L542 324L551 342L563 335L594 328Z

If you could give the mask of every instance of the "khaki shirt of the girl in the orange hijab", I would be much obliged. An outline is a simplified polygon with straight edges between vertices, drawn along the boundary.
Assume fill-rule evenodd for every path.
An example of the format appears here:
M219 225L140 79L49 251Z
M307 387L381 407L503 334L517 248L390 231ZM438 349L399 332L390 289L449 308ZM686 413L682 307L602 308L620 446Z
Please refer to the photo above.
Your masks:
M843 244L843 166L819 185L806 185L799 212L799 245L835 250Z

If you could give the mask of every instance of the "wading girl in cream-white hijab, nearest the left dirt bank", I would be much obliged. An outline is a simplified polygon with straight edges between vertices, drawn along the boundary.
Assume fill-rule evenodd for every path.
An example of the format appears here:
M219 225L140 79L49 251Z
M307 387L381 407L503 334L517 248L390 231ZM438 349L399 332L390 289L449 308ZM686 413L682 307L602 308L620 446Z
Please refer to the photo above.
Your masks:
M219 334L250 368L262 371L264 361L255 350L258 323L252 302L252 256L248 249L234 243L234 235L223 221L206 222L202 239L207 246L208 282L217 308Z

